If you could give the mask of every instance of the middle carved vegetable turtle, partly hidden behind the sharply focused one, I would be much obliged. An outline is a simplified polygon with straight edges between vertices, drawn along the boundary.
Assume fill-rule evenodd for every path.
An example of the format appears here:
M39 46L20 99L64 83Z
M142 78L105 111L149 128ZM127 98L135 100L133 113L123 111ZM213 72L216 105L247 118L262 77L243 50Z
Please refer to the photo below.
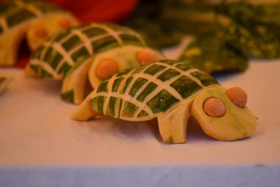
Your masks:
M63 77L62 99L83 101L85 80L96 88L118 70L162 58L144 39L127 27L92 23L53 36L31 54L30 68L41 77Z

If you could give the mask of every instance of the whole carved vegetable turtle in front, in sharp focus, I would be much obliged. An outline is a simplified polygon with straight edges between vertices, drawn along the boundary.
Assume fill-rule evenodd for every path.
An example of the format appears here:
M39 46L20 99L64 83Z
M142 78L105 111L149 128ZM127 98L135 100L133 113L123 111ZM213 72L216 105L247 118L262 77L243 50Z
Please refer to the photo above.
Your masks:
M239 140L255 130L255 117L246 107L246 93L225 89L189 63L160 60L116 73L103 80L71 117L85 121L99 112L128 121L158 118L162 140L186 142L190 114L207 135Z

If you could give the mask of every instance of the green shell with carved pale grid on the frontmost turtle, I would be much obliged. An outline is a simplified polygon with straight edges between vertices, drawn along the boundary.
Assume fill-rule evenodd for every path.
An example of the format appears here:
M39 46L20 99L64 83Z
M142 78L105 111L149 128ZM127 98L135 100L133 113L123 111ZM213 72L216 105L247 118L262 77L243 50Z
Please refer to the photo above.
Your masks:
M92 95L93 110L130 121L153 119L218 82L189 63L160 60L104 80Z

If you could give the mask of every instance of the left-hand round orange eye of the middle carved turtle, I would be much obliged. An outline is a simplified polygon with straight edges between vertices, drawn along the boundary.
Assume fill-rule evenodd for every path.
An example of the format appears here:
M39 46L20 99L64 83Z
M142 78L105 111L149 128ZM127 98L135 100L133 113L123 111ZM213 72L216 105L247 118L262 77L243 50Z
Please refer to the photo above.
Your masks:
M103 59L97 63L95 68L95 74L99 79L104 80L107 77L113 75L118 72L118 63L111 59Z

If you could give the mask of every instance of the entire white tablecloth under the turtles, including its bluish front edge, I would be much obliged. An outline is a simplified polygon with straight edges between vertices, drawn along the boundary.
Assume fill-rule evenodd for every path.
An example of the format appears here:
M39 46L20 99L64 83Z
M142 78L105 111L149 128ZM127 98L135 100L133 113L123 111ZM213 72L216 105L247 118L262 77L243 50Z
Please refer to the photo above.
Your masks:
M208 137L194 119L185 144L164 144L156 120L73 121L61 82L19 68L0 76L14 78L0 96L0 186L280 186L280 60L216 75L245 89L259 118L253 137L234 142Z

